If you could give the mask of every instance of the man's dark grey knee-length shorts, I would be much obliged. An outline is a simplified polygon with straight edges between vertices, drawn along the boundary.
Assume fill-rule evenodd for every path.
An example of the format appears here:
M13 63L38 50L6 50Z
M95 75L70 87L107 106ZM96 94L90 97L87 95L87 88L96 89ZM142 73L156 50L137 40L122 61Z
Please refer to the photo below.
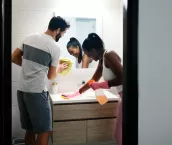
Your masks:
M17 91L17 99L23 129L36 134L52 131L52 108L48 92Z

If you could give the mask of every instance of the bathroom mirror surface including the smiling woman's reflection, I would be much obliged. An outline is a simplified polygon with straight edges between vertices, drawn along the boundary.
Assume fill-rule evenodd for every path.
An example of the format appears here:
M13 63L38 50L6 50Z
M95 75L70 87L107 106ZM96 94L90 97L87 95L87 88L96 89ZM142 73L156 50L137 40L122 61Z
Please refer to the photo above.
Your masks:
M68 32L60 39L61 57L73 62L72 68L95 68L97 62L82 52L82 43L89 33L97 33L96 18L64 17L71 25Z

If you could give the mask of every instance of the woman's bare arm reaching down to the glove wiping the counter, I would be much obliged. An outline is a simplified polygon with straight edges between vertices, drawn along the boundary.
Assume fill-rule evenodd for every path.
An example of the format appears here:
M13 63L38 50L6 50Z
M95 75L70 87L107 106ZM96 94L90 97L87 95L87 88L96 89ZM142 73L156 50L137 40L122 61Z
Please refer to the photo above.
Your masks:
M102 60L100 60L98 66L97 66L96 72L94 73L94 75L91 79L93 79L95 81L99 81L102 76L102 71L103 71ZM82 88L79 89L79 92L83 93L83 92L87 91L89 88L90 88L90 86L87 82Z

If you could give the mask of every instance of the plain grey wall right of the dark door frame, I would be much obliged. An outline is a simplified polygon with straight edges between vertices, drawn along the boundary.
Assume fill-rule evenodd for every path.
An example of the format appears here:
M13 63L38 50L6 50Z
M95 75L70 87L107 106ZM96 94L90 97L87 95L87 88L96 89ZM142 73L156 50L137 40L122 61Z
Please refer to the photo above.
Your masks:
M171 5L139 0L139 145L172 144Z

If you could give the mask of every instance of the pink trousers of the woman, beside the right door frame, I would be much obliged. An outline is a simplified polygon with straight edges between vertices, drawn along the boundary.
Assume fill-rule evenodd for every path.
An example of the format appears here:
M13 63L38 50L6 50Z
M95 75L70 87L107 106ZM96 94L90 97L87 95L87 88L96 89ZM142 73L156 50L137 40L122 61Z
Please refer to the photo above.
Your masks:
M122 92L119 92L121 101L117 110L117 121L115 127L115 139L117 145L122 145Z

